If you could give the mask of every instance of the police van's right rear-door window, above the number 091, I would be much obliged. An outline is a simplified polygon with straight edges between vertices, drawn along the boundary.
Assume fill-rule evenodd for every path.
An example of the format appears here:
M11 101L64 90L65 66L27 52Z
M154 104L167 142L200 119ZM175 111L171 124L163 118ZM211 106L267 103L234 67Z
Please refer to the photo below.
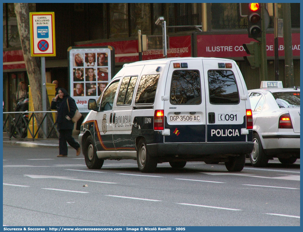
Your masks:
M240 102L235 75L230 70L208 70L208 87L211 104Z

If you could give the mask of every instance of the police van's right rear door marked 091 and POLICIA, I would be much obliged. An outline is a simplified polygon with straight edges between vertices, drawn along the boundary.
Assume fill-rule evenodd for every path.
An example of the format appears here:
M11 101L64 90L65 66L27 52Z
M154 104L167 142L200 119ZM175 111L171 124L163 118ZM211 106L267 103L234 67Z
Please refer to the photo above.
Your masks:
M230 60L203 59L207 142L246 142L246 105L240 77Z

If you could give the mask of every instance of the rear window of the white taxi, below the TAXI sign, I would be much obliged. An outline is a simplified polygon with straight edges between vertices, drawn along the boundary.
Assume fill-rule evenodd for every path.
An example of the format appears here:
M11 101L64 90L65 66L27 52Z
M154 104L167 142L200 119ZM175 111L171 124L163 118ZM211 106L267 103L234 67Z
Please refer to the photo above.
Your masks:
M272 93L280 108L300 107L300 92Z

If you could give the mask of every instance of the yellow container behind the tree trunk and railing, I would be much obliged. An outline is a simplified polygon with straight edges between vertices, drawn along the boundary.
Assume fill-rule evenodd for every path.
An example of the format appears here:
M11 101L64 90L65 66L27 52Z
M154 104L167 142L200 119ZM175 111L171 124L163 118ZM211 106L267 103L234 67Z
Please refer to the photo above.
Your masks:
M46 83L46 91L47 91L47 95L48 95L49 104L51 104L52 98L55 97L55 94L56 94L55 84ZM32 91L31 91L30 86L28 86L28 111L35 111L33 97L32 97ZM56 110L52 110L52 111L56 111ZM56 113L52 113L52 115L53 115L53 120L55 122ZM32 116L32 113L29 113L28 118L30 118L31 116ZM37 132L37 129L38 129L38 124L37 124L35 117L33 116L33 118L31 118L31 120L28 122L27 138L33 138L32 135L35 135L35 133ZM32 132L32 135L30 132ZM35 136L35 138L38 138L38 134Z

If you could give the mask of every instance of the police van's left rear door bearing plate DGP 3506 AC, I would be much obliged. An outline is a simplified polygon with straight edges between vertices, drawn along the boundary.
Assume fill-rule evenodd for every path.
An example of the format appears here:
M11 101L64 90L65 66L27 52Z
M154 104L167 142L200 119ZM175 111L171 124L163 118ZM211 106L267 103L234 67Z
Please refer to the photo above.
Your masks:
M205 88L201 59L171 61L165 86L165 143L205 142Z

